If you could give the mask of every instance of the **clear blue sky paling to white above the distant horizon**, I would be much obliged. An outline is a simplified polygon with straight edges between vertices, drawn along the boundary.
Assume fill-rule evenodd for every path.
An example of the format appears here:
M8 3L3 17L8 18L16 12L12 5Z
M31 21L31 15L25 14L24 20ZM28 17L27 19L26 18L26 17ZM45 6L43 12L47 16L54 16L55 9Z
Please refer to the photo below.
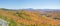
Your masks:
M60 9L60 0L0 0L0 8Z

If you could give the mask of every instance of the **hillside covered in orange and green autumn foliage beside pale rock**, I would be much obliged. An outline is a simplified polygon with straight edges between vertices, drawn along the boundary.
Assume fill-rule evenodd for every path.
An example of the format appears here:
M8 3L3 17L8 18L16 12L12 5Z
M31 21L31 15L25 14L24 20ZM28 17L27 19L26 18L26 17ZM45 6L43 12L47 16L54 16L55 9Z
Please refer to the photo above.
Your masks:
M60 14L30 10L0 10L0 18L9 22L9 26L60 26ZM51 17L52 16L52 17Z

